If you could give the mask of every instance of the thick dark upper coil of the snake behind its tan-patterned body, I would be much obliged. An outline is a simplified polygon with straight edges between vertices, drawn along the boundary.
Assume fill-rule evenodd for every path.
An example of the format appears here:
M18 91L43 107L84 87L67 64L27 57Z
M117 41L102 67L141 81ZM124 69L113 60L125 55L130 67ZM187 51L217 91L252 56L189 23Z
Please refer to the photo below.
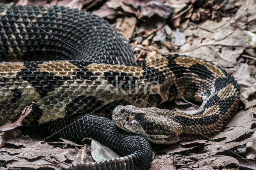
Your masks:
M90 12L63 6L1 6L0 61L134 63L124 36Z

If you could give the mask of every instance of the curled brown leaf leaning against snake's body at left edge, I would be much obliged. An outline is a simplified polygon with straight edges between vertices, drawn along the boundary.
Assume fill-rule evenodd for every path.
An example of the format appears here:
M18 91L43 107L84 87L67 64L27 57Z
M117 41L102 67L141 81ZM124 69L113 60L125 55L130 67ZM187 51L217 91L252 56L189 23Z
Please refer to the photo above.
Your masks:
M18 114L14 115L12 118L10 118L9 122L4 124L3 126L0 126L0 131L6 131L6 130L11 130L14 129L18 126L22 125L23 119L30 114L32 111L32 106L34 105L35 102L32 102L30 106L26 106L22 112L19 112Z

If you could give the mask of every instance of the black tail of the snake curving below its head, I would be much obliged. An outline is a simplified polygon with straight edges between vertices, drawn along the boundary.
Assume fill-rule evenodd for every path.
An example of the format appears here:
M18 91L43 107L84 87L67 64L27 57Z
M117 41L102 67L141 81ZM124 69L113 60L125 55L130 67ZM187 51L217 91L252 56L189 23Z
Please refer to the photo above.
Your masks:
M124 156L102 162L71 166L68 170L147 170L152 162L152 149L148 141L130 134L112 120L97 115L70 116L46 123L51 134L80 142L90 137Z

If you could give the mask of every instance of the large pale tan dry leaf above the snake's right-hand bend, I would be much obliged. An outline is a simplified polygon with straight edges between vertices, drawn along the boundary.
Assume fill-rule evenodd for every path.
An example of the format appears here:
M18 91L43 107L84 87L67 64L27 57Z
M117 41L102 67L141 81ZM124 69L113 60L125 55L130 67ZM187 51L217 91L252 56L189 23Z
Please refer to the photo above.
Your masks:
M222 67L233 67L236 65L236 59L245 49L244 22L228 22L230 18L222 18L221 22L206 20L197 26L190 25L184 34L190 36L202 37L192 44L181 46L180 54L185 54L197 58L212 61L214 64ZM224 25L223 25L224 24ZM203 29L202 29L203 28ZM206 30L214 30L208 33Z

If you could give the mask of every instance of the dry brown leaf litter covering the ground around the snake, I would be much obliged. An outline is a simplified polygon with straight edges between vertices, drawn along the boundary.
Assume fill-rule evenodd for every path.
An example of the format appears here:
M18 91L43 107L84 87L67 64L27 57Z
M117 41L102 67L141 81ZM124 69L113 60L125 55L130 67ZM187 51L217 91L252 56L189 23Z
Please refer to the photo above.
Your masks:
M240 85L239 110L219 134L208 140L167 146L152 144L155 156L150 170L256 169L256 8L252 8L255 1L18 0L17 4L69 6L103 17L124 34L136 60L178 53L225 68ZM244 12L249 8L252 9ZM187 113L198 108L187 101L166 106ZM18 118L14 126L20 126L23 118ZM11 130L14 126L4 127L8 131L0 136L0 162L7 161L3 168L61 169L117 156L93 140L92 144L64 139L41 142ZM102 150L102 158L95 158Z

